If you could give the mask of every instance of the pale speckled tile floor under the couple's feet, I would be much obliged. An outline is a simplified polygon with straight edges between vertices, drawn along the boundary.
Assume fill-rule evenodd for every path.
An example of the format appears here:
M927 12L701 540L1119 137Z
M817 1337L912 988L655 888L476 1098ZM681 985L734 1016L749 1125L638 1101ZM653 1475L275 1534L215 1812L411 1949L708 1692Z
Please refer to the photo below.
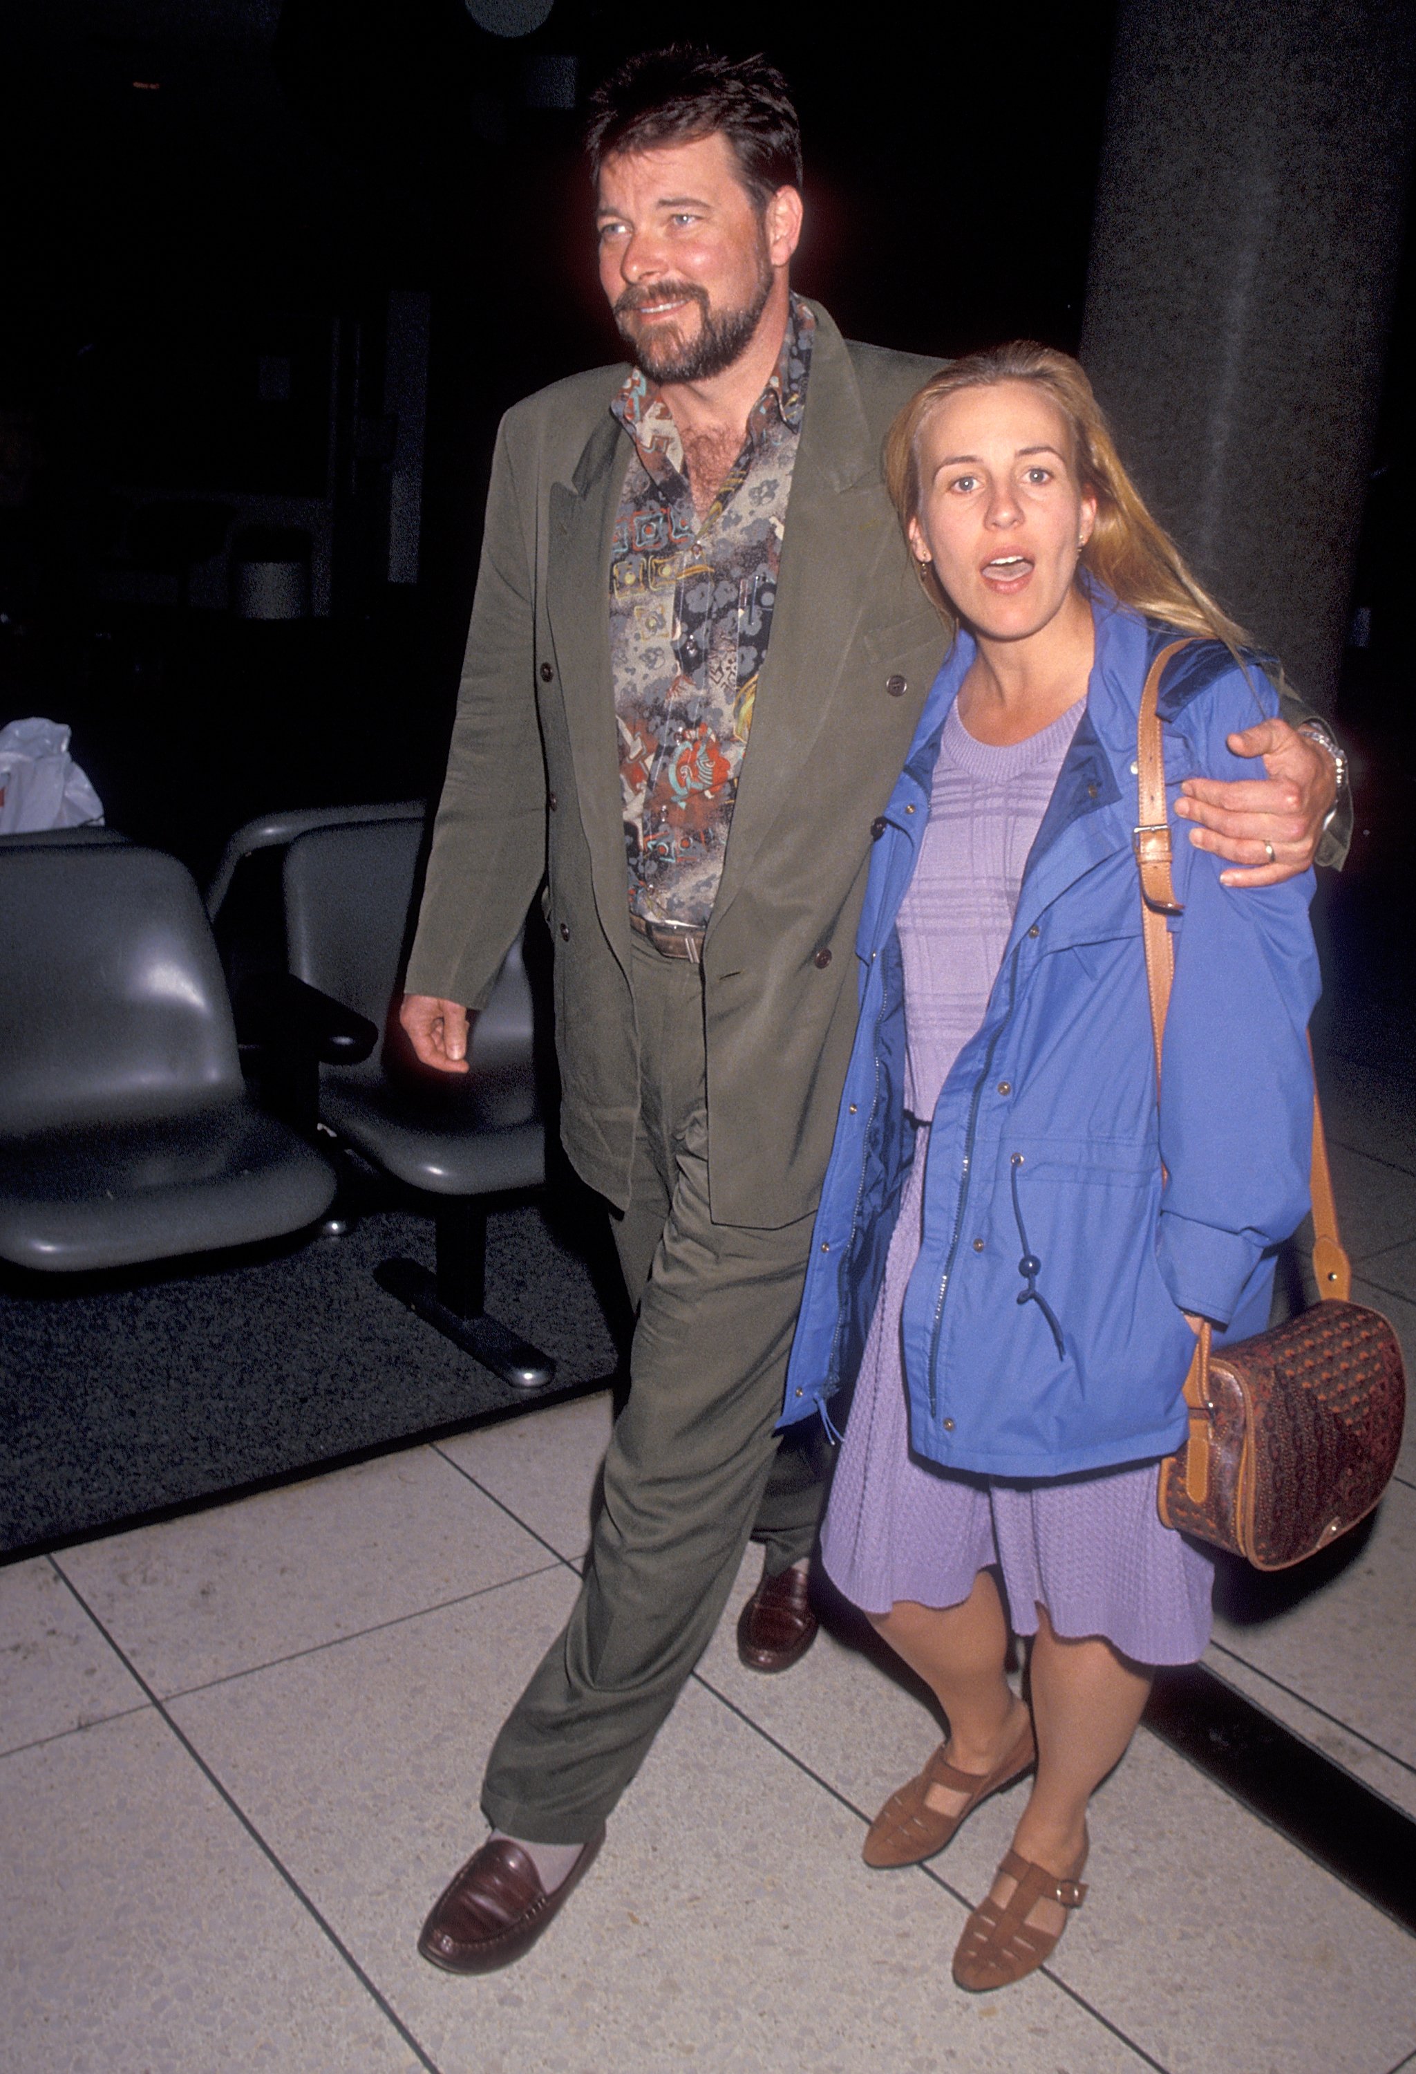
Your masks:
M1358 1296L1416 1373L1416 1103L1333 1074ZM935 1723L831 1636L736 1659L748 1558L605 1852L514 1970L415 1952L560 1626L607 1402L0 1570L0 2066L17 2074L1416 2074L1416 1939L1144 1730L1045 1974L950 1985L1016 1806L860 1865ZM1331 1580L1211 1667L1416 1815L1416 1435Z

